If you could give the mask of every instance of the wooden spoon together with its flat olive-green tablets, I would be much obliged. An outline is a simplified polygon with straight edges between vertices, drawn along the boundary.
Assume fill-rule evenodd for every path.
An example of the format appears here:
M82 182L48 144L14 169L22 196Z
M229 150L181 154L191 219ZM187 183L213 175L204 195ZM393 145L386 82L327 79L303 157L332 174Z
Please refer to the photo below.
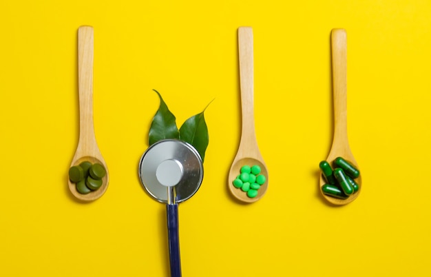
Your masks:
M69 170L68 185L70 192L81 201L100 198L109 183L107 165L94 134L93 41L92 27L82 26L78 29L79 141ZM90 174L85 174L89 170ZM83 176L90 176L81 178L81 171Z

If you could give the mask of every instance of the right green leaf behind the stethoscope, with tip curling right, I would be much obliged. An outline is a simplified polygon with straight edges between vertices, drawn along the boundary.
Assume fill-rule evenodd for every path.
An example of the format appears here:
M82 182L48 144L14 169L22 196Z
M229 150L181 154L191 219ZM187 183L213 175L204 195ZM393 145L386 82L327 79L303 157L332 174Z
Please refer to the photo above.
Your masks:
M207 107L200 114L191 116L180 127L180 140L193 145L198 150L202 162L204 161L205 151L209 143L208 127L204 118L204 112L207 110Z

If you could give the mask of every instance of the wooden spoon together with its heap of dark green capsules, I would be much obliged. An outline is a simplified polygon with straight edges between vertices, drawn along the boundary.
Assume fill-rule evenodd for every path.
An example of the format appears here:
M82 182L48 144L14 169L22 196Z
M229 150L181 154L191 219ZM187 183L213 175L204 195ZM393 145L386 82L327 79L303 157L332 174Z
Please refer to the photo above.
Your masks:
M319 186L320 192L324 198L333 205L346 205L354 201L359 192L361 192L362 179L359 175L359 167L355 157L350 150L347 137L347 35L344 29L333 29L331 32L331 51L332 51L332 67L333 67L333 97L334 97L334 136L333 144L326 158L326 163L322 162L320 167L322 171L330 171L330 164L339 167L333 171L337 181L340 181L342 189L337 190L336 187L328 185L331 181L321 174ZM355 178L356 188L347 183L344 171L349 170L347 167L353 167L357 172L348 172ZM344 170L343 170L344 169ZM328 175L329 173L325 173ZM346 185L346 187L344 186ZM329 189L333 189L330 192ZM328 195L332 194L332 196ZM338 195L337 195L338 194Z

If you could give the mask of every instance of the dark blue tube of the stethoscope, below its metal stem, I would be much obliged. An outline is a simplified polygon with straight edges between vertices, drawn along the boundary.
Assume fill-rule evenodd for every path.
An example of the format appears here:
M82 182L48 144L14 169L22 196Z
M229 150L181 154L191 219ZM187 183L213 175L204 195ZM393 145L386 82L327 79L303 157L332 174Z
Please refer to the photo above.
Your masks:
M178 239L178 204L166 205L171 277L181 277L180 241Z

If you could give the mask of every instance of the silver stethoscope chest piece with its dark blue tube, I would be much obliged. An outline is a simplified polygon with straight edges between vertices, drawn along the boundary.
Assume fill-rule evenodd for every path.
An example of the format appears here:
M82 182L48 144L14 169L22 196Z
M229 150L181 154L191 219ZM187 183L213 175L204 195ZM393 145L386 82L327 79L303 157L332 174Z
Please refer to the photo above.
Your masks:
M189 143L166 139L151 145L140 158L139 178L156 201L167 203L171 277L181 276L178 203L196 194L203 178L202 159Z

